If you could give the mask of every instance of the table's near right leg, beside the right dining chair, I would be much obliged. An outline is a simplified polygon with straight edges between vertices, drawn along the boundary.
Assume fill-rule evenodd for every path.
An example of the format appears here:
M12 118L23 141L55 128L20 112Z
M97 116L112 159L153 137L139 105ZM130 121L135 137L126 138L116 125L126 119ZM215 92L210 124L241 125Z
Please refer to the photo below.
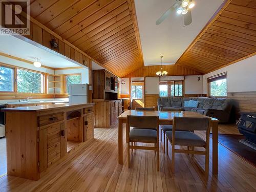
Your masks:
M212 122L212 174L218 174L218 122Z

